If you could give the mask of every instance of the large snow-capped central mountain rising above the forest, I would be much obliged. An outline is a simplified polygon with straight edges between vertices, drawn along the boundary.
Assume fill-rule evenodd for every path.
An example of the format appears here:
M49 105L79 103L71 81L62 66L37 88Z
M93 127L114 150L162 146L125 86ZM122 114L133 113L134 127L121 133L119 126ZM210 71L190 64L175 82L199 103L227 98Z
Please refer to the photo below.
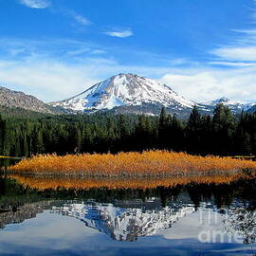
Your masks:
M93 85L77 96L51 104L82 112L113 108L125 110L131 106L138 113L154 114L155 107L158 114L162 106L175 112L191 111L195 102L179 96L166 84L134 74L119 74ZM132 112L132 109L129 111Z

